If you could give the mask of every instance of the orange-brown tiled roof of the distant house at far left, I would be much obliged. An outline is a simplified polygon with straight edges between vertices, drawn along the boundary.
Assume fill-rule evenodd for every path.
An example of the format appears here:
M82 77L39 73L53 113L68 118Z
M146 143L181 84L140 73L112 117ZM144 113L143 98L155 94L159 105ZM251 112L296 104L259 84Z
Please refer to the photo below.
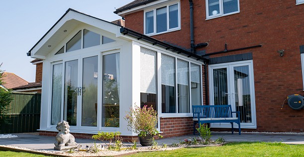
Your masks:
M13 73L7 73L4 72L2 73L2 76L4 76L3 82L5 82L4 84L2 84L6 89L11 89L13 87L17 87L17 86L21 86L21 85L26 85L28 84L28 81L16 76Z

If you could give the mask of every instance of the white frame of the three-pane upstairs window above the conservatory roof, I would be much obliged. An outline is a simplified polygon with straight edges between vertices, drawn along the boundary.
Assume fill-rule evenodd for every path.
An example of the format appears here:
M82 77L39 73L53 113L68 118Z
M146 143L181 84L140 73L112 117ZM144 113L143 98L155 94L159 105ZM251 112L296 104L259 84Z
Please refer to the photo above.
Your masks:
M178 4L178 27L170 29L169 28L170 27L170 25L169 25L170 24L169 23L170 22L169 21L169 6L175 5L175 4ZM156 9L164 7L164 6L166 6L166 9L167 9L167 31L157 33L156 32ZM146 34L146 12L149 12L149 11L153 11L153 32ZM176 30L180 30L180 29L181 29L181 3L180 3L180 1L174 2L174 3L169 3L166 5L160 5L160 6L157 6L154 8L149 8L144 11L144 34L145 35L151 36L151 35L163 34L163 33L172 32L172 31L176 31Z

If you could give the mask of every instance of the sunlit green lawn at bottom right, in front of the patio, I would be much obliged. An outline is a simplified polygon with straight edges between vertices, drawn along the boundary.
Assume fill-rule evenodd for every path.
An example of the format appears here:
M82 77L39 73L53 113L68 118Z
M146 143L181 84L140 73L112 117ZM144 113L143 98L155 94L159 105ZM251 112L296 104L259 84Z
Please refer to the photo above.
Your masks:
M183 148L174 151L137 153L127 157L303 157L304 145L242 142L222 147Z

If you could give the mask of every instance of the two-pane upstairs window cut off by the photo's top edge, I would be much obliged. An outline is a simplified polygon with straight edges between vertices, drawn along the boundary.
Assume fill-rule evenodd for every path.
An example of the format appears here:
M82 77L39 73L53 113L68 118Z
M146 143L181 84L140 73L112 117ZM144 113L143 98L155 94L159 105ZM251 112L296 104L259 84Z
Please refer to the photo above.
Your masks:
M239 0L206 0L206 18L240 12Z

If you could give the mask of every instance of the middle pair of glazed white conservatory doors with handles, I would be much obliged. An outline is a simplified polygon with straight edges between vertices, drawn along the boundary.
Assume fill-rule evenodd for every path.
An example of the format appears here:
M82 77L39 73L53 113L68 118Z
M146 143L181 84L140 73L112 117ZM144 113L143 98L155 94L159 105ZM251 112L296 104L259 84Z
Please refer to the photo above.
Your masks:
M63 120L71 129L96 129L98 56L64 62Z

